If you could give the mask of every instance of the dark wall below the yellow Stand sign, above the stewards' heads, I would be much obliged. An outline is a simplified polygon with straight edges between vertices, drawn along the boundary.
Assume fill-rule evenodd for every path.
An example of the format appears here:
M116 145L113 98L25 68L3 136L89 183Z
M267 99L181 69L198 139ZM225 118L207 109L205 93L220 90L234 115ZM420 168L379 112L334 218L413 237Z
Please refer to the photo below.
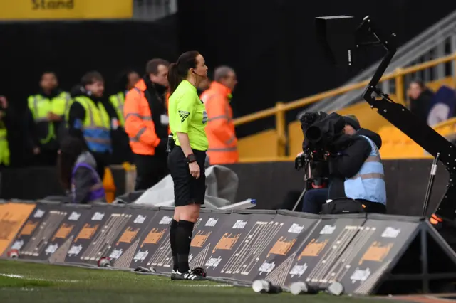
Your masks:
M89 70L105 78L107 94L118 92L123 70L144 73L155 57L175 60L178 51L177 16L158 22L74 21L0 23L0 91L17 109L38 91L41 73L56 72L70 90Z

